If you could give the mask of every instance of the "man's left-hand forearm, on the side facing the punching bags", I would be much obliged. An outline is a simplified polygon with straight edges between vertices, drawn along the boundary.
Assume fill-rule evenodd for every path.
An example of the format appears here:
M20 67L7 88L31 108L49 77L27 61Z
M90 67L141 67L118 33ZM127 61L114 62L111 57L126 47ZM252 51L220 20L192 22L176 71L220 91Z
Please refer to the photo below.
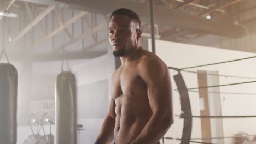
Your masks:
M114 139L115 119L107 116L101 128L100 135L97 137L98 143L110 143Z

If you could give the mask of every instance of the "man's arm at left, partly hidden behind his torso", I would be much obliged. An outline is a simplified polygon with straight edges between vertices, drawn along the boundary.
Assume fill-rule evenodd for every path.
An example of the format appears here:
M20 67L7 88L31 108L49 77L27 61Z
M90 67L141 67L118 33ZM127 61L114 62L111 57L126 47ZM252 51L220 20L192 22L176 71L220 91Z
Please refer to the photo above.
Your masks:
M100 144L110 143L114 140L115 128L115 101L111 99L109 113L101 127L100 135L98 135L96 142Z

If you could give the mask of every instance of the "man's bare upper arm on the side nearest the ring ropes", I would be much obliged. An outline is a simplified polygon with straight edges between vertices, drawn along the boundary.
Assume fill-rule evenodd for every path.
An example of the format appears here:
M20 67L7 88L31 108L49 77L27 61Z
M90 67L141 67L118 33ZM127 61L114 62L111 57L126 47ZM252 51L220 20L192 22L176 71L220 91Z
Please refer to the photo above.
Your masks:
M150 62L143 69L150 106L153 111L171 107L171 81L168 68L161 61Z

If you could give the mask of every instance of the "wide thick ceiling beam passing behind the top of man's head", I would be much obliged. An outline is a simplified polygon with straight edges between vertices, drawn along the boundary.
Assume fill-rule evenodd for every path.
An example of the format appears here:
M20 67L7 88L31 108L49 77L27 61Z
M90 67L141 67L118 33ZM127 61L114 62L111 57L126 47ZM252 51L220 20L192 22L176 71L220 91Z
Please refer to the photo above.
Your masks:
M98 13L103 15L110 14L118 8L129 8L136 11L141 16L142 21L149 22L149 6L131 1L120 0L56 0L64 3L72 3L73 5L83 6L83 10L90 13ZM99 4L101 3L101 4ZM230 23L213 22L202 17L191 16L189 14L177 13L174 10L154 7L155 21L159 26L178 26L192 31L200 31L210 34L223 35L225 37L239 38L245 35L245 31L240 26Z

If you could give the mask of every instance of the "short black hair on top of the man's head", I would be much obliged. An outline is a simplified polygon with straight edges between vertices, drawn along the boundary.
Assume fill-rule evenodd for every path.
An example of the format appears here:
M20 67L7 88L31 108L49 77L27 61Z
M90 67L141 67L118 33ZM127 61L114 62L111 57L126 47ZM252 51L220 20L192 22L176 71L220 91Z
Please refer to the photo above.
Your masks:
M126 15L129 16L132 20L135 20L139 23L139 27L141 27L141 19L139 18L138 14L136 14L134 11L126 8L120 8L115 11L113 11L110 15L110 20L115 15Z

